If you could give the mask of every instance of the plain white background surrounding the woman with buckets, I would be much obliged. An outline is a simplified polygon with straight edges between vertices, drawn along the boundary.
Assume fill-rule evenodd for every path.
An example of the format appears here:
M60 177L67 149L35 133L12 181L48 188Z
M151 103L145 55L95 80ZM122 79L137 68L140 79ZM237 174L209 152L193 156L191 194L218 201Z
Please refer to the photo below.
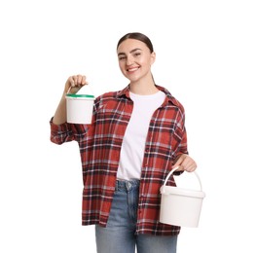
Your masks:
M49 121L70 75L87 75L96 95L127 86L116 44L139 31L155 47L156 83L186 109L206 194L178 253L256 252L254 3L1 1L0 251L95 252L78 146L51 143Z

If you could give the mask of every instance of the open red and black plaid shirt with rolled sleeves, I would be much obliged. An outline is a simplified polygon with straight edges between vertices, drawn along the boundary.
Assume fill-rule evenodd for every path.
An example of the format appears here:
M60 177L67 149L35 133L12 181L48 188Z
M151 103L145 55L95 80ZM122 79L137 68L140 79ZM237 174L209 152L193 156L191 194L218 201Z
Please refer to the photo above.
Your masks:
M183 106L165 88L165 102L152 116L141 167L136 234L178 235L180 227L159 222L160 188L174 160L187 152ZM133 102L128 87L107 92L94 101L91 125L62 124L51 120L51 141L76 140L83 168L82 224L107 224L115 192L123 137ZM175 185L173 177L167 185Z

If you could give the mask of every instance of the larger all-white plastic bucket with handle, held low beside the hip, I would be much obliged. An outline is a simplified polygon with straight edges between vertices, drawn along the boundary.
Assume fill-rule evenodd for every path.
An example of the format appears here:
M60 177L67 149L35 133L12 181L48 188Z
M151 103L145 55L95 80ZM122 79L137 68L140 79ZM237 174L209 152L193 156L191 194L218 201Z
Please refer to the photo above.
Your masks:
M172 169L161 187L160 222L181 227L198 227L201 216L201 204L205 194L202 191L166 186L170 175L178 167ZM201 180L195 172L200 185Z

